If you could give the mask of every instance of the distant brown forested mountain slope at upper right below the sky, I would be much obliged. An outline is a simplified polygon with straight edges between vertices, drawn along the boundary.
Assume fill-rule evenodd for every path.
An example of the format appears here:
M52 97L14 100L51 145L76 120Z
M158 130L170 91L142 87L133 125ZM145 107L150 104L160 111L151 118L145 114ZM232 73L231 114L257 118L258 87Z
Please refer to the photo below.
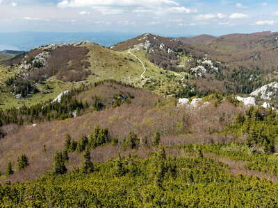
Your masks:
M195 55L207 54L233 67L278 71L278 33L264 31L251 34L229 34L220 37L199 35L179 37L186 44L195 46Z

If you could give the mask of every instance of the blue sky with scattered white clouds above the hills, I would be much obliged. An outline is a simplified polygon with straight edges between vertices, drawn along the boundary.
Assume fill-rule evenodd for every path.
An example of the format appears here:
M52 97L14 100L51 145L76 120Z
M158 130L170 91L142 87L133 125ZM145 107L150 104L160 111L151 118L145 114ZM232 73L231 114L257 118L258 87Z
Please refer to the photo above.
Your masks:
M164 35L278 31L278 1L0 0L0 31Z

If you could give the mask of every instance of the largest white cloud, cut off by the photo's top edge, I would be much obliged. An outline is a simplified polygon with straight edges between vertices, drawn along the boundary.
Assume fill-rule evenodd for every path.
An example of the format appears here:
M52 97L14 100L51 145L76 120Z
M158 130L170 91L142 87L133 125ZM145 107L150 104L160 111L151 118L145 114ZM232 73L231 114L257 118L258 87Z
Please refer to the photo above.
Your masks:
M1 0L0 0L1 1ZM64 0L58 3L59 8L93 8L103 14L120 14L124 12L175 12L193 13L174 0Z

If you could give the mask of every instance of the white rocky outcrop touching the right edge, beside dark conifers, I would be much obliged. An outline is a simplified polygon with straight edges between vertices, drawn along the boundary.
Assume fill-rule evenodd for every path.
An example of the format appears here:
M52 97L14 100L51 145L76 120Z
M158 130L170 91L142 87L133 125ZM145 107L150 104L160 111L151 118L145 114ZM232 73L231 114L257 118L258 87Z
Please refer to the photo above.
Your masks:
M250 95L259 96L263 100L272 100L274 96L278 96L278 83L270 83L268 85L264 85L263 87L256 89Z

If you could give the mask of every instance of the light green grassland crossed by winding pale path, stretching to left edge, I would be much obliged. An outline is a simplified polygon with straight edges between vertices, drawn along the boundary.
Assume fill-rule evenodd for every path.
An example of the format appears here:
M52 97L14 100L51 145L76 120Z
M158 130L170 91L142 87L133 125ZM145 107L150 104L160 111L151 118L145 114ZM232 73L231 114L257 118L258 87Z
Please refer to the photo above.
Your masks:
M107 79L119 80L137 87L144 87L145 80L142 80L140 77L143 71L142 65L133 57L133 55L130 55L127 51L117 52L111 49L106 49L97 44L90 44L88 45L88 48L90 49L90 52L88 53L88 61L91 64L91 67L88 70L92 72L92 75L90 75L87 80L79 83L63 83L53 77L45 82L45 84L48 84L52 89L50 94L38 93L31 98L25 98L22 100L16 99L10 94L10 92L8 92L8 89L2 87L0 103L6 105L0 105L0 107L19 107L23 104L32 105L38 102L48 101L67 89L81 85L81 83L95 83ZM154 82L152 82L153 87L151 87L152 91L158 94L165 94L169 91L170 94L174 94L177 89L179 89L180 86L177 82L180 78L177 78L177 76L166 78L167 74L171 75L172 73L167 73L165 70L156 67L149 62L145 52L141 51L135 54L138 55L147 66L147 72L145 74L146 78L152 78L152 80L154 80ZM0 73L0 85L4 86L6 78L15 73L20 73L20 71L18 69L16 71L8 71L6 67L2 66L0 67ZM157 83L159 84L157 85ZM145 88L149 88L149 85L146 85ZM43 91L44 85L38 85L38 89Z

